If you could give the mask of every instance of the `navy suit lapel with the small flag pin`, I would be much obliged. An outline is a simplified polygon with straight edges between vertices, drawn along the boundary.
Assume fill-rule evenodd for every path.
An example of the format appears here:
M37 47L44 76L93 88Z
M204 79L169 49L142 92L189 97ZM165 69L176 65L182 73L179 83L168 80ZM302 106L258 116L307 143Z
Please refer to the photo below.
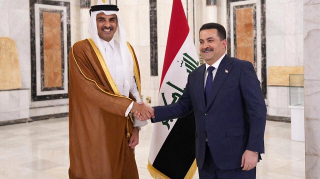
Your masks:
M210 107L210 105L213 102L216 94L220 90L221 85L223 84L224 80L226 79L226 77L230 73L230 71L232 69L232 65L230 65L231 62L232 62L231 59L227 55L225 55L223 57L223 59L221 60L221 62L219 64L219 67L218 67L218 69L217 69L217 71L215 73L214 79L213 79L212 91L211 91L209 99L207 101L207 105L205 107L205 111L207 111L208 108Z

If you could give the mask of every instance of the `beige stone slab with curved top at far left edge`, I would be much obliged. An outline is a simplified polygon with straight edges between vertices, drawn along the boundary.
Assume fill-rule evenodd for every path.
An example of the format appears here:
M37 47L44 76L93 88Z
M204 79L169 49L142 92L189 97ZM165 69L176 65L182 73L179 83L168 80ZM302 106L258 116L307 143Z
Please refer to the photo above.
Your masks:
M0 90L21 88L18 51L13 39L0 37Z

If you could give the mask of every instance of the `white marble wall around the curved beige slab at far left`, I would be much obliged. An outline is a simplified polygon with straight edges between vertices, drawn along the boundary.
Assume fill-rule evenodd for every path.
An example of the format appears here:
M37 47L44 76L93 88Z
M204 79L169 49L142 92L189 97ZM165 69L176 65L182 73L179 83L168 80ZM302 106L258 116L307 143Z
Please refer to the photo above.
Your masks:
M14 40L22 90L0 91L0 125L29 117L30 26L28 0L0 0L0 36Z

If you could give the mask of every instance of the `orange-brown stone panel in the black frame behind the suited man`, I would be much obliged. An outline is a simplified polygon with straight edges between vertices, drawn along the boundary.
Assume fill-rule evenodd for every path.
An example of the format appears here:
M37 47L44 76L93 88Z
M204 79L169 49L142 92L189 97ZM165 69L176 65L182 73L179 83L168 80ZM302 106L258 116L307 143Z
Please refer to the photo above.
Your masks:
M253 8L236 9L236 57L253 64Z

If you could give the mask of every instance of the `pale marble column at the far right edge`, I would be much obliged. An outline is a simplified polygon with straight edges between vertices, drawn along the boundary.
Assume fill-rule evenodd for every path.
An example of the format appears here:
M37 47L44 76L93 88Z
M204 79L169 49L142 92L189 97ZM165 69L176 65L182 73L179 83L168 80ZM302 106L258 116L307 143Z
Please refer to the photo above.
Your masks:
M304 0L305 178L320 178L320 3Z

